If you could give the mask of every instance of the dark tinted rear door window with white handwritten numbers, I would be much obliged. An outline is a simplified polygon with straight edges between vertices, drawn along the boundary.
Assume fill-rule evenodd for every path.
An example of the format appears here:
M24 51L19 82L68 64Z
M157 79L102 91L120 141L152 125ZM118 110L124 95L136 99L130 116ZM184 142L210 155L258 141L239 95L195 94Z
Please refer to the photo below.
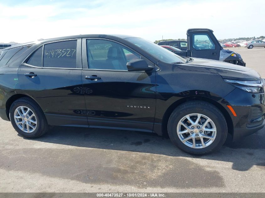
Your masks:
M77 68L76 62L77 40L60 41L44 45L43 67Z

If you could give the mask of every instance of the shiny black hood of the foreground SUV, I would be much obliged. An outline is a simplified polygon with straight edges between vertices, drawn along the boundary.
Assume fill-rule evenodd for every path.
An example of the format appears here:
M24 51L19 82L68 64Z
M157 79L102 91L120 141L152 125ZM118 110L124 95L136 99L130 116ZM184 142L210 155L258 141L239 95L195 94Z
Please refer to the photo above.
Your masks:
M224 79L233 80L260 80L260 75L255 70L204 58L192 58L193 61L186 64L178 64L178 68L200 72L211 72L221 75Z

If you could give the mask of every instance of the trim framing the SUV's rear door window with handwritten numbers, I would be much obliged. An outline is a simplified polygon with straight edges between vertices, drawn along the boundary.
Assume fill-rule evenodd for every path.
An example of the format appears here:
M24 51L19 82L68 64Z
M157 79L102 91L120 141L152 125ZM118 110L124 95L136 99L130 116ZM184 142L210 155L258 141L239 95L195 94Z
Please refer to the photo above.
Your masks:
M76 59L76 68L61 68L61 67L43 67L43 52L44 52L44 45L46 44L50 44L50 43L57 43L57 42L61 42L61 41L71 41L71 40L77 40L77 59ZM39 47L37 47L36 49L34 49L33 52L31 52L27 58L25 58L25 60L21 63L24 66L27 67L33 67L33 68L41 68L41 69L72 69L72 70L80 70L82 69L82 54L81 54L81 41L82 38L71 38L71 39L62 39L62 40L56 40L56 41L51 41L51 42L47 42L47 43L42 43ZM34 66L34 65L30 65L28 64L28 60L31 56L33 56L33 54L39 49L42 48L42 56L41 56L41 67L39 66Z

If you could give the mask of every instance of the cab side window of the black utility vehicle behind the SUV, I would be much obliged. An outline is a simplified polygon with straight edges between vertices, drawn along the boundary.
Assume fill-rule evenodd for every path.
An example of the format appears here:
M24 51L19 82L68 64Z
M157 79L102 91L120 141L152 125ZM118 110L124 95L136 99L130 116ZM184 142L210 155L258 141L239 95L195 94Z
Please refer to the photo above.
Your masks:
M193 48L196 50L213 50L215 44L207 33L193 34Z

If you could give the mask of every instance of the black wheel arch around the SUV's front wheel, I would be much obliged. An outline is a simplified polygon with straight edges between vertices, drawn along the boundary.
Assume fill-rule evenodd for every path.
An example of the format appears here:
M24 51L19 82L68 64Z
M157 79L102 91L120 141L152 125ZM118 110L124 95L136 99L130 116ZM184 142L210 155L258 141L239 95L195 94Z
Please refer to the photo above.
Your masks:
M171 113L173 112L173 110L176 109L179 105L185 102L188 102L188 101L193 101L193 100L201 100L201 101L209 102L210 104L215 105L215 107L217 107L222 112L222 114L225 116L225 120L226 120L227 128L228 128L228 134L233 135L234 133L233 121L228 111L221 104L207 97L190 96L190 97L182 98L182 99L175 101L167 108L167 110L165 111L163 115L163 119L162 119L162 135L163 136L168 136L167 123L168 123L168 119Z

